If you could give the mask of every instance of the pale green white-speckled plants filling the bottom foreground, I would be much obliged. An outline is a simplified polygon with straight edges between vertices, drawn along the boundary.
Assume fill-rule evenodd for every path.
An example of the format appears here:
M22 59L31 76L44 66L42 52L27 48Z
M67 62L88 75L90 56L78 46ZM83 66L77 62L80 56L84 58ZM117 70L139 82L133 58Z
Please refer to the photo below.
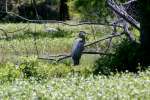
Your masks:
M15 79L0 85L1 99L149 100L150 71L85 78L77 74L36 81Z

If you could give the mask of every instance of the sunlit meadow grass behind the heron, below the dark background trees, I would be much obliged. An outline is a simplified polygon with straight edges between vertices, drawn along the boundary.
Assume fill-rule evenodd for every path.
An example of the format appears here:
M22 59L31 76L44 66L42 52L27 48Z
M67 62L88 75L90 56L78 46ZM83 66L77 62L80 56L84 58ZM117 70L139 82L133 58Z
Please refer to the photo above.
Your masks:
M62 24L47 24L48 27L59 28L60 32L45 32L44 24L19 23L19 24L0 24L8 32L9 40L0 40L0 62L17 59L18 56L41 56L70 53L71 47L77 32L88 32L88 40L93 41L93 34L90 25L66 26ZM22 30L20 30L22 29ZM100 25L95 25L95 29L100 32L108 33L110 30ZM19 31L16 31L19 30ZM60 34L62 37L60 36ZM0 31L1 37L5 37ZM102 36L97 33L96 38ZM36 39L35 39L36 38ZM36 44L36 45L35 45ZM37 55L37 51L39 55Z

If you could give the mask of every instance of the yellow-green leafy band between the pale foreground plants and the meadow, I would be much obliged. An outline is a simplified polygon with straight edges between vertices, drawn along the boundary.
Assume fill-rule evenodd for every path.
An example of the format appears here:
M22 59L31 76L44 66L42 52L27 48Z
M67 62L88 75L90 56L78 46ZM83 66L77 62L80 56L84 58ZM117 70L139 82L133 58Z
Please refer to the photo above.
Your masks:
M72 66L71 61L56 62L42 62L36 57L22 57L18 64L4 63L0 65L0 82L12 82L15 79L34 78L36 81L43 79L50 79L53 77L66 77L68 74L78 74L87 77L92 74L92 67Z

